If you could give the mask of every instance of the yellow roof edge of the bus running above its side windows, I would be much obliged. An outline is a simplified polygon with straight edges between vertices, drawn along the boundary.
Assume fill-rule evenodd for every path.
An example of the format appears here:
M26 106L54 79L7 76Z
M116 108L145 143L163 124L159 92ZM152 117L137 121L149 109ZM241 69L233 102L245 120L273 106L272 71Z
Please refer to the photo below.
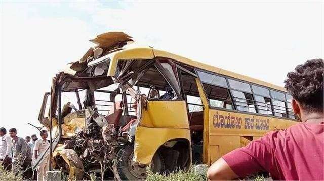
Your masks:
M208 64L204 64L204 63L200 63L197 61L193 61L189 58L185 58L183 56L179 56L167 51L161 51L161 50L157 50L157 49L153 49L150 47L141 47L141 48L128 48L128 49L124 49L124 50L120 50L117 52L113 52L111 55L111 63L112 65L109 66L109 71L108 71L108 75L114 75L114 71L116 69L117 66L117 61L118 59L151 59L153 57L165 57L165 58L170 58L170 59L174 59L177 62L183 63L183 64L187 64L189 66L193 66L199 69L204 69L210 72L214 72L217 74L221 74L221 75L225 75L228 77L232 77L235 79L239 79L242 81L246 81L246 82L251 82L254 84L258 84L261 86L266 86L272 89L276 89L279 91L284 91L286 92L286 89L284 87L280 87L265 81L261 81L249 76L245 76L245 75L241 75L241 74L237 74L231 71L227 71L218 67L214 67Z

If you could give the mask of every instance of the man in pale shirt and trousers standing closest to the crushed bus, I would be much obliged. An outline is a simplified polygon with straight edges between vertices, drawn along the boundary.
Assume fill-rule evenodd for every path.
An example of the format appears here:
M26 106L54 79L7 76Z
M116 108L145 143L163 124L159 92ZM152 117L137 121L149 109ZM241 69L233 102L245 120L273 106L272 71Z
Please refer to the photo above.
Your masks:
M41 156L49 146L49 140L46 138L48 137L47 131L42 130L41 131L41 139L37 140L35 142L35 147L34 147L34 159L36 160L38 156ZM45 180L45 173L48 171L48 161L49 158L45 158L41 164L38 166L37 170L37 180L38 181L43 181Z

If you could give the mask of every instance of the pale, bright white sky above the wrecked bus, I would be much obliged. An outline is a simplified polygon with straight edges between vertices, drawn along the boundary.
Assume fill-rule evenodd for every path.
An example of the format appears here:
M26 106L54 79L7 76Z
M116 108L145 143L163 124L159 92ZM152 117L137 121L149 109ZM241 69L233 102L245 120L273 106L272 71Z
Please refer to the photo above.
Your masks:
M136 45L284 86L287 72L323 58L323 1L1 1L0 127L25 137L52 77L88 40L123 31Z

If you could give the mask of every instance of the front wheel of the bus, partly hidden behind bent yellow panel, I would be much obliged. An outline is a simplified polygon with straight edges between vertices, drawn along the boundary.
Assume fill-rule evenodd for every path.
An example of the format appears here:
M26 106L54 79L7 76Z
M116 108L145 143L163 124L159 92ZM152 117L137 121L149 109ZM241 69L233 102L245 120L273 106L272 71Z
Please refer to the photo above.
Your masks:
M143 180L146 178L147 165L138 164L133 161L134 145L121 148L117 153L116 177L118 180ZM164 170L164 160L159 152L156 152L152 162L153 172Z

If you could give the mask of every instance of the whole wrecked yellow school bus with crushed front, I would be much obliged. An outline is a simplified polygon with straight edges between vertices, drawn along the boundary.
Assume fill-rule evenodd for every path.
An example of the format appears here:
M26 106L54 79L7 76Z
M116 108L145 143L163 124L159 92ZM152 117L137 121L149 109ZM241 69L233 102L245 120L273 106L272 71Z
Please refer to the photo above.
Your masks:
M70 177L136 180L147 165L157 172L210 165L298 123L282 87L151 47L128 48L132 39L120 32L92 41L96 47L54 77L39 113L53 137L44 155Z

